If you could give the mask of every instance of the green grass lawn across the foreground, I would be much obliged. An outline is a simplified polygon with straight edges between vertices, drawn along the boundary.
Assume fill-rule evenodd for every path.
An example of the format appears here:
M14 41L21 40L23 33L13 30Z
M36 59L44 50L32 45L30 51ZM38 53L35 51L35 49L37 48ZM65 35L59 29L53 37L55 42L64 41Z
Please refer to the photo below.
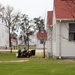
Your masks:
M75 75L75 60L16 58L15 53L1 52L0 75Z

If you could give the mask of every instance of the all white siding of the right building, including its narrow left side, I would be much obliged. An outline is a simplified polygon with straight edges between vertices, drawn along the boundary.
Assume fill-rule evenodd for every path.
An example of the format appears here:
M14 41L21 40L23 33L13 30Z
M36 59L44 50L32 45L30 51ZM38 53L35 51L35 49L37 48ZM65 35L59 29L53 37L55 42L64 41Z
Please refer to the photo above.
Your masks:
M49 39L48 52L51 51L55 57L75 57L75 41L69 41L69 23L72 23L72 19L56 19L55 8L53 8L53 30L52 30L52 45ZM50 28L48 28L48 33L50 33Z

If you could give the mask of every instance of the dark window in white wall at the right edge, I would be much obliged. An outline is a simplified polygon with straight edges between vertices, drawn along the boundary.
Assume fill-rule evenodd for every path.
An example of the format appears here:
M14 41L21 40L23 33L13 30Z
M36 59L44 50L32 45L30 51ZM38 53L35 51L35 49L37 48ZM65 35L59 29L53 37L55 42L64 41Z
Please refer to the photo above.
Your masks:
M75 41L75 23L69 24L69 41Z

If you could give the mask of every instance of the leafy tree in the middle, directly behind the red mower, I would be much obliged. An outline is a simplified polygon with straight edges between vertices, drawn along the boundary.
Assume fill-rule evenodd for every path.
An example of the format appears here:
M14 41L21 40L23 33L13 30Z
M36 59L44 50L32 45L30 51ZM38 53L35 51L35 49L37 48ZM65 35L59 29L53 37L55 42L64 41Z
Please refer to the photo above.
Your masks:
M32 28L33 25L31 25L31 20L29 20L28 15L22 14L21 15L21 23L20 23L20 29L21 29L21 35L20 39L24 38L24 43L27 44L28 50L29 50L29 35L33 33Z

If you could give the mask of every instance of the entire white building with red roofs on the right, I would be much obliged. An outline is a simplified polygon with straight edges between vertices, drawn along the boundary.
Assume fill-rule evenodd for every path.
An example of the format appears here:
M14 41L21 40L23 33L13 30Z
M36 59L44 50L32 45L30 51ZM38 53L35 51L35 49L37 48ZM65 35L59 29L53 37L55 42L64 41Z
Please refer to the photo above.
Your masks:
M54 0L48 12L48 56L75 58L75 4L71 0Z

